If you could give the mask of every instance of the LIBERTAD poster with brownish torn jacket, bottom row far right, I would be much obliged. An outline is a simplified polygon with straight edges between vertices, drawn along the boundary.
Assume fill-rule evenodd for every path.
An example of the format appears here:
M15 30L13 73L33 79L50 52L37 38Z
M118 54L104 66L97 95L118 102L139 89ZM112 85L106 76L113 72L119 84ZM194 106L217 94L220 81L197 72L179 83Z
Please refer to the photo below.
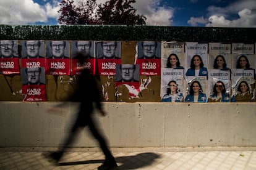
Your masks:
M255 102L254 70L232 70L231 94L232 102Z

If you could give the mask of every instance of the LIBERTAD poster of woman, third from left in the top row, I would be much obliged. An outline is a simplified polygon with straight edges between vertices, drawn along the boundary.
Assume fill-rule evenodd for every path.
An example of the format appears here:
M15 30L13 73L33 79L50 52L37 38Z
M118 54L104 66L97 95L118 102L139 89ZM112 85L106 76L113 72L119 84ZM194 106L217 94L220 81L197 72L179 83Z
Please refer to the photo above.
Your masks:
M231 70L231 44L209 43L208 69Z

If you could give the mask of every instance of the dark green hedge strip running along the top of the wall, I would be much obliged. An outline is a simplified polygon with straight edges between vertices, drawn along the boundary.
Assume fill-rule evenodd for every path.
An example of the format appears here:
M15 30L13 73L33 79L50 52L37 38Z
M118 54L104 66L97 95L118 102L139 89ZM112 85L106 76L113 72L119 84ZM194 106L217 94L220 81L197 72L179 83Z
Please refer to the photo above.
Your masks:
M256 41L256 28L122 25L0 25L0 39L254 43Z

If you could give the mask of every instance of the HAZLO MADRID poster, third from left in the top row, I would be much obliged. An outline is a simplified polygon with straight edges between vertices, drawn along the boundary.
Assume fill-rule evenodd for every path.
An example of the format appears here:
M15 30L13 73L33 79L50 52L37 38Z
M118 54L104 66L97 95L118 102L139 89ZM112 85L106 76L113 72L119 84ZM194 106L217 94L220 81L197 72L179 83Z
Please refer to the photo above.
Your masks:
M46 75L70 75L69 41L46 41Z

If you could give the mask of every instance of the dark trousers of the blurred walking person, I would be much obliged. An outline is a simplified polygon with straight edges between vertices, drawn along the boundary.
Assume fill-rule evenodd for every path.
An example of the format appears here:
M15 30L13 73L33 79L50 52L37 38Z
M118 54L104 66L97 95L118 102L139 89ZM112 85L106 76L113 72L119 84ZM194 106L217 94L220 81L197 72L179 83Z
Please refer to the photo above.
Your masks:
M106 160L112 160L113 155L111 154L106 144L106 140L103 138L103 135L96 128L96 124L94 123L91 114L85 115L85 113L83 114L81 112L78 114L77 119L74 125L72 126L72 129L70 130L66 140L64 141L63 147L60 148L59 152L65 152L67 146L74 142L75 135L77 134L78 130L80 128L85 128L87 126L90 128L90 132L92 132L93 137L95 137L95 139L98 140L98 143L100 144L100 148L104 153Z

